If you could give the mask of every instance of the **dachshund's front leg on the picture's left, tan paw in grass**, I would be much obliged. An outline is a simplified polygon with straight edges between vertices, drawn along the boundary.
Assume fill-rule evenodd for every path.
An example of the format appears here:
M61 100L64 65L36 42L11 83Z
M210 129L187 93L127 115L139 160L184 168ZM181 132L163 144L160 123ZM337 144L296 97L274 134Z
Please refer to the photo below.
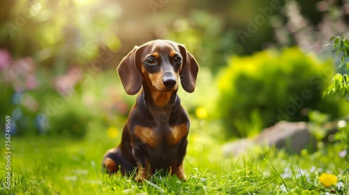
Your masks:
M138 165L138 173L135 180L141 182L143 179L149 180L153 175L148 157L144 152L144 146L133 146L133 157Z

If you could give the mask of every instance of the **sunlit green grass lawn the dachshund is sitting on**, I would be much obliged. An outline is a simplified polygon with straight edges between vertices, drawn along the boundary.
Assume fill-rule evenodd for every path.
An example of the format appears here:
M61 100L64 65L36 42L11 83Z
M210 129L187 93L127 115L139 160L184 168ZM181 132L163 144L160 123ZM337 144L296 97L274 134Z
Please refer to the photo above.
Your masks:
M192 123L184 162L186 182L160 174L135 182L132 176L101 173L105 150L117 146L119 138L94 130L83 140L13 136L11 189L4 188L6 162L1 160L0 194L349 194L349 164L338 155L341 145L319 144L312 154L303 150L288 155L265 147L241 157L224 157L219 125ZM4 145L5 140L0 141ZM324 187L319 182L324 172L336 175L344 188Z

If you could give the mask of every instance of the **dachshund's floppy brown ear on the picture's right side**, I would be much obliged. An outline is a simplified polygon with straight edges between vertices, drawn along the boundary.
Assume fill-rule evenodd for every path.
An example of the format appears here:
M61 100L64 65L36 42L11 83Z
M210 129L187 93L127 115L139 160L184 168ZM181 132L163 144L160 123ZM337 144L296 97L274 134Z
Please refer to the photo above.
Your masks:
M188 93L195 90L196 77L199 71L198 62L191 53L186 51L184 45L178 45L181 56L183 57L183 68L181 70L181 86Z

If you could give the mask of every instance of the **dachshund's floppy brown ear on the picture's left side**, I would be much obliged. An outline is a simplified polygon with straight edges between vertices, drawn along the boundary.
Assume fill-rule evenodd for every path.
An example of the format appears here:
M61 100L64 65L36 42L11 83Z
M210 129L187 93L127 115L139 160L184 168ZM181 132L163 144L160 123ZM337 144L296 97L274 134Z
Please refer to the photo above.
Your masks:
M139 51L140 47L135 46L124 56L124 59L117 67L117 73L121 79L121 83L128 95L135 95L142 87L142 74L139 67Z

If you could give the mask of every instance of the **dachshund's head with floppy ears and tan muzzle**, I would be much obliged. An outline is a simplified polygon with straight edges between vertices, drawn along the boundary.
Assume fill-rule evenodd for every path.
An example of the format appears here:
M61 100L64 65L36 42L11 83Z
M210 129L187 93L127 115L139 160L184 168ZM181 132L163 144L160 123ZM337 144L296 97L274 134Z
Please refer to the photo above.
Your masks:
M143 83L157 91L175 91L179 81L185 91L192 93L198 70L198 63L184 45L171 40L151 40L135 46L117 68L128 95L138 93Z

